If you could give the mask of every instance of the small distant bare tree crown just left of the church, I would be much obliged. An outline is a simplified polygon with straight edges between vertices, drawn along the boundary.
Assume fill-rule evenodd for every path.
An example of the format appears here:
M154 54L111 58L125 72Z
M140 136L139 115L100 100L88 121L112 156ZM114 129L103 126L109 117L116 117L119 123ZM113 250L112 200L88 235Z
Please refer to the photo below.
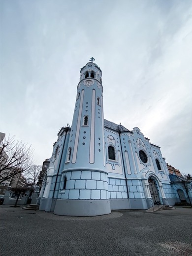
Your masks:
M32 165L29 170L24 172L24 177L27 179L29 186L36 185L41 169L41 165Z

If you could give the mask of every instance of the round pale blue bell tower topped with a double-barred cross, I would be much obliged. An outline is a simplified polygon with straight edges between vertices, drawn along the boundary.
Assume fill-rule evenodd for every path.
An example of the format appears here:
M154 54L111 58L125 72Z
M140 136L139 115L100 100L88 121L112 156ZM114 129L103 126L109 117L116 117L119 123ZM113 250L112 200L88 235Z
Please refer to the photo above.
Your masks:
M102 71L92 57L80 70L61 198L54 213L70 216L109 214L105 166Z

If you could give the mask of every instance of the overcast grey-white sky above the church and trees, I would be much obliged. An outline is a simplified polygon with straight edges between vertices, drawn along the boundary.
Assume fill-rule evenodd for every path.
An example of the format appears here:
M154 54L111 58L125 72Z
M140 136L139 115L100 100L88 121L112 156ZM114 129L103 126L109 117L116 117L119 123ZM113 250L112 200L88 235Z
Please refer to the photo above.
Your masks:
M92 56L104 118L192 174L192 0L0 0L0 132L51 157Z

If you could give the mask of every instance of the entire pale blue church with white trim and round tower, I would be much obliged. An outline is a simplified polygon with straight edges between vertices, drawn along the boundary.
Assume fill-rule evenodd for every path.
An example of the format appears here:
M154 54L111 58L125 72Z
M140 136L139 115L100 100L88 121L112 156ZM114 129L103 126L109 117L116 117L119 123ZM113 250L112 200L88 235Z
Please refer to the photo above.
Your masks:
M179 202L160 147L139 128L103 117L102 71L92 57L80 70L71 127L53 145L39 195L40 210L96 216Z

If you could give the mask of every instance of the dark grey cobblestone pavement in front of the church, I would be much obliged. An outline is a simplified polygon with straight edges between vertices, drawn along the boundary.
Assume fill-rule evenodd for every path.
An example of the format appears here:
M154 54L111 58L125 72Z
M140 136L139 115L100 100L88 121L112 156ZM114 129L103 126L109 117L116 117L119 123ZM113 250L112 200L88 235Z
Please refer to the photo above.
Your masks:
M192 256L192 209L64 217L0 205L1 256Z

